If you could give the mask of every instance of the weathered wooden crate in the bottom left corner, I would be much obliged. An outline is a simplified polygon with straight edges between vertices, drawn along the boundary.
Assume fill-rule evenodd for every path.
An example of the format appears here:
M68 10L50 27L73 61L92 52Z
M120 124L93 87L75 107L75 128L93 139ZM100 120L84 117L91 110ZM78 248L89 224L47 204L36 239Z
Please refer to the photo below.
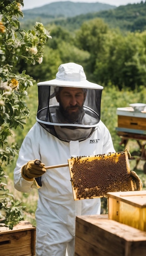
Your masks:
M35 256L36 228L21 221L12 230L0 227L0 256Z

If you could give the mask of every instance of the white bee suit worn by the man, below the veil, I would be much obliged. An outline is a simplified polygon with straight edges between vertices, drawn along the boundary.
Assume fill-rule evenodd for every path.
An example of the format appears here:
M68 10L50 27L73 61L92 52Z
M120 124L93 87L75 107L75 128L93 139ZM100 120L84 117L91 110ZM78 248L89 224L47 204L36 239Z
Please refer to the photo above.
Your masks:
M34 182L24 180L21 167L32 159L46 166L67 164L71 156L88 156L115 152L111 135L100 121L91 137L83 141L61 141L47 132L38 122L25 137L14 170L14 186L30 192ZM100 214L100 199L73 200L69 167L52 168L42 175L42 187L35 213L37 222L36 256L62 256L66 243L72 243L69 256L74 255L75 217ZM58 251L55 251L57 245ZM56 246L55 246L56 247ZM60 249L59 249L60 248Z

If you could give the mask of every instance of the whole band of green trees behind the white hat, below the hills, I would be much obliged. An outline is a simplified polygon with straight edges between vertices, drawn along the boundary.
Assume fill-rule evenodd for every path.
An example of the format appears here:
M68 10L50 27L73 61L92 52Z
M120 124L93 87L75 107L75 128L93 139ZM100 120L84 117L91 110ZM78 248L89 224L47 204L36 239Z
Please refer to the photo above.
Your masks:
M146 31L126 32L110 29L100 18L86 21L72 33L60 26L51 26L52 40L45 46L43 65L19 63L37 81L55 77L61 63L75 62L84 66L88 79L120 90L145 85ZM49 58L48 58L49 56Z

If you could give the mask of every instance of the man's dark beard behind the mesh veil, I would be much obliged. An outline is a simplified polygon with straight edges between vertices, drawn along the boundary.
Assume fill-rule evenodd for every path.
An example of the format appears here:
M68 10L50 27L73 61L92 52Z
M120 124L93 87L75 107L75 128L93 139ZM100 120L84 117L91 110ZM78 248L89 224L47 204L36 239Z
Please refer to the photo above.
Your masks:
M70 109L78 108L77 111L69 112ZM66 109L63 108L62 104L60 103L60 112L62 113L64 119L66 119L67 123L75 123L78 122L78 119L81 118L81 116L84 113L83 106L75 105L71 107L67 107Z

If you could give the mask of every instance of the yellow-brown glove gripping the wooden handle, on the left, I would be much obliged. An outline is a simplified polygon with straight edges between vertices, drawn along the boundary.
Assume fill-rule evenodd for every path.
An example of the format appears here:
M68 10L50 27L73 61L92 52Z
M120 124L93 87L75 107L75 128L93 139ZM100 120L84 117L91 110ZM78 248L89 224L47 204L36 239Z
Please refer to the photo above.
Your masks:
M21 175L24 180L33 181L34 178L42 176L46 172L44 164L40 160L27 162L21 169Z

